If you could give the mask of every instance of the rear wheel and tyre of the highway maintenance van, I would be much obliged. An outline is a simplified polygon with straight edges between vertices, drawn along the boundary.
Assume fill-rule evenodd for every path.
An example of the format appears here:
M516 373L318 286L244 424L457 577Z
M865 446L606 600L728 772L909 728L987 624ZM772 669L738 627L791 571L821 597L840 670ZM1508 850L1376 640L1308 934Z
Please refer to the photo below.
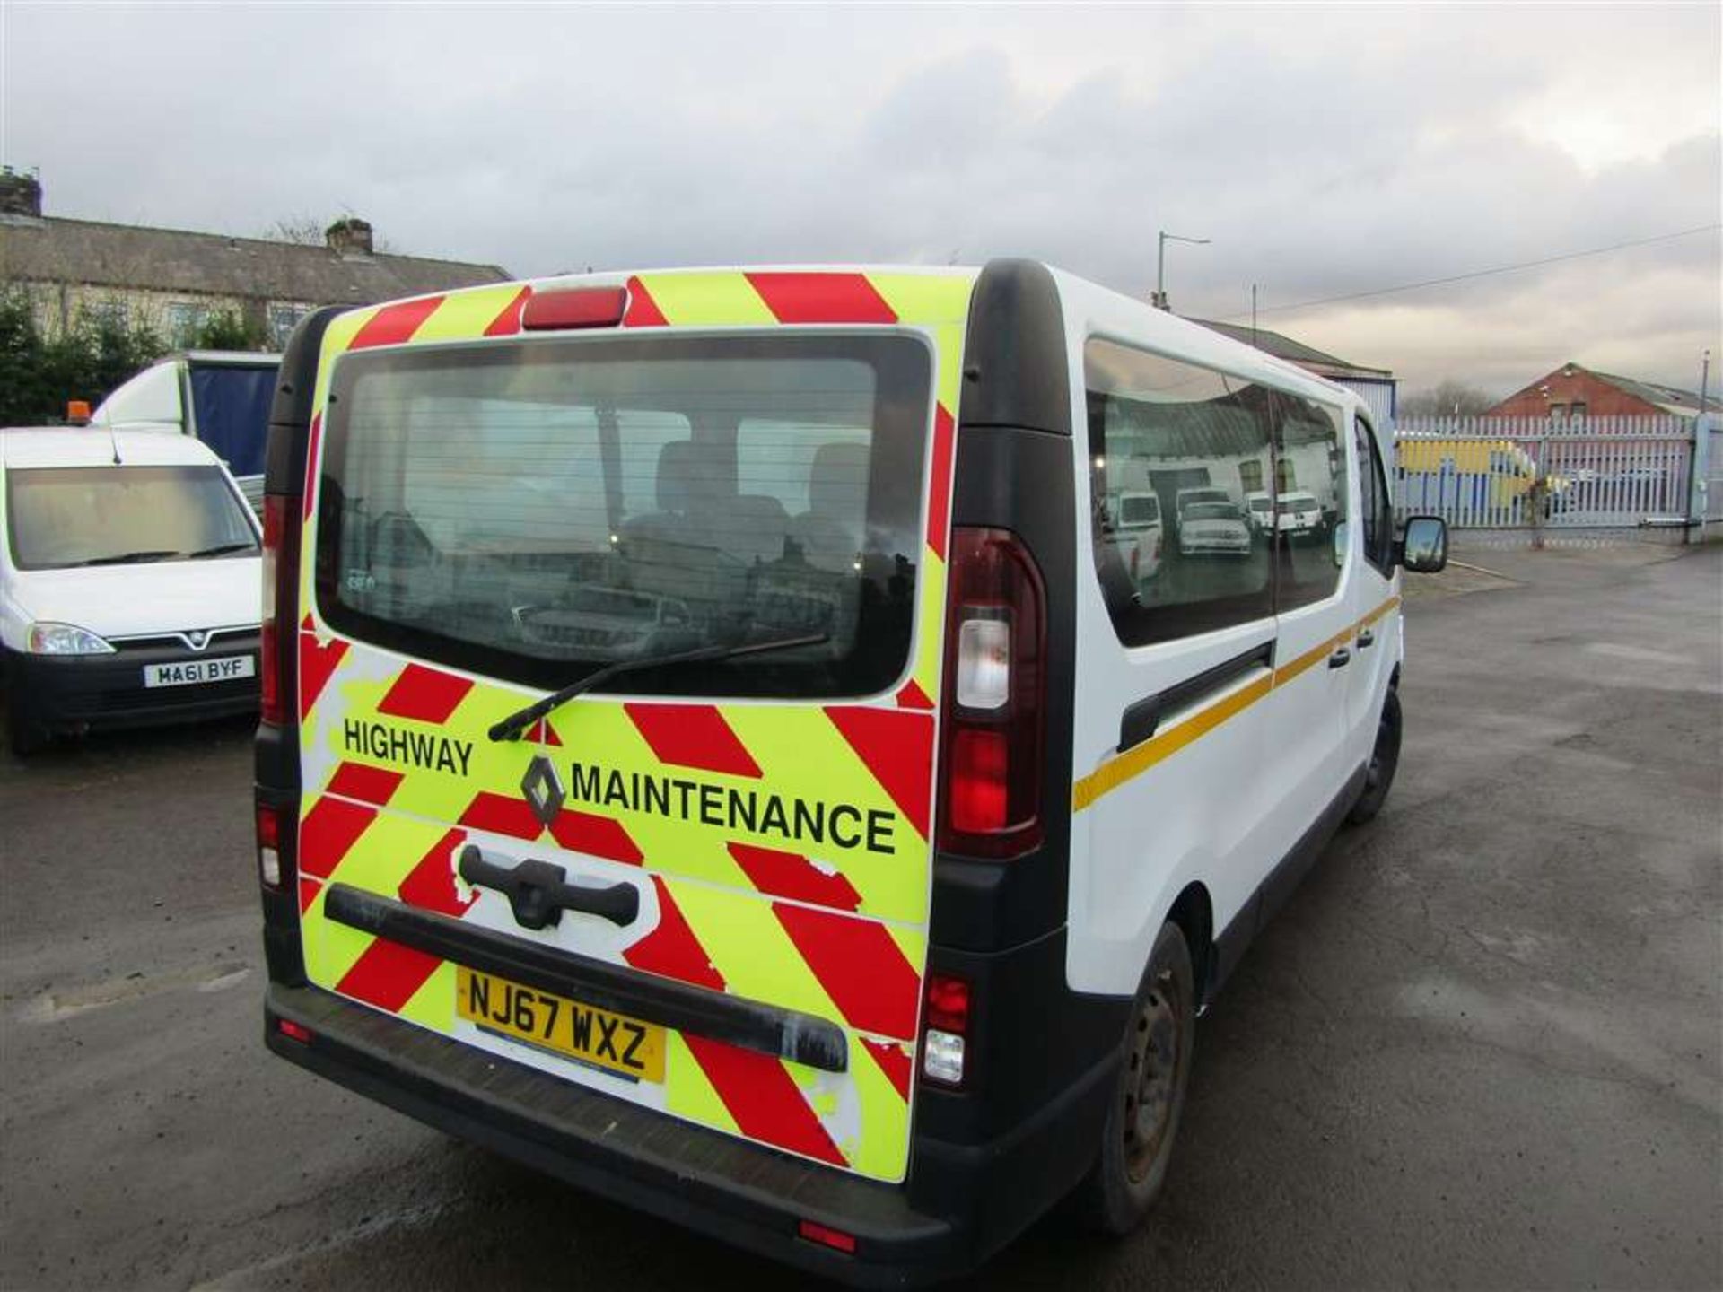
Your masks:
M1091 1228L1130 1233L1160 1197L1184 1113L1194 1040L1191 947L1179 925L1165 923L1130 1008L1101 1152L1079 1197Z

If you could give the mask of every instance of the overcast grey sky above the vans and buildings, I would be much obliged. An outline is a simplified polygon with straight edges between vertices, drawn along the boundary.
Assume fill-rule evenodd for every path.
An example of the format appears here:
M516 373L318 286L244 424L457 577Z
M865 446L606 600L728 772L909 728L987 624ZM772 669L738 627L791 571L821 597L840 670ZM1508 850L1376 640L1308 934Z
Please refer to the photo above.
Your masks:
M0 0L0 160L47 214L562 269L1032 255L1403 389L1564 360L1699 384L1718 3L117 7ZM1718 388L1713 372L1713 391Z

